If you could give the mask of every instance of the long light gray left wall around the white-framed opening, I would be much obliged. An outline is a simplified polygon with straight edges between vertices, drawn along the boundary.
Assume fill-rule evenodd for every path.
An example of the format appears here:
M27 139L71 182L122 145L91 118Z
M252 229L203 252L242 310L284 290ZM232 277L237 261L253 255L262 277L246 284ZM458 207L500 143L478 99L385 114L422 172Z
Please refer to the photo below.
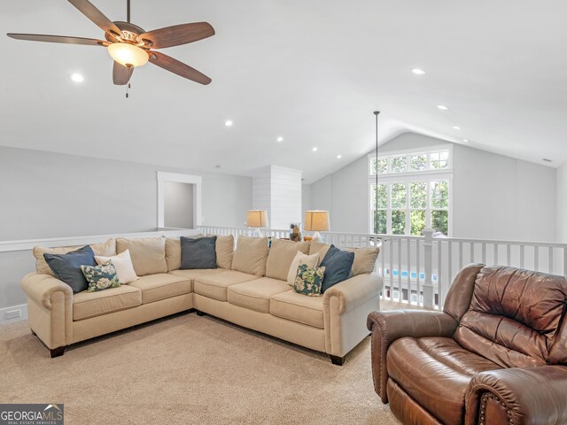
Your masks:
M157 171L203 177L203 224L242 226L252 179L0 147L0 241L155 229Z

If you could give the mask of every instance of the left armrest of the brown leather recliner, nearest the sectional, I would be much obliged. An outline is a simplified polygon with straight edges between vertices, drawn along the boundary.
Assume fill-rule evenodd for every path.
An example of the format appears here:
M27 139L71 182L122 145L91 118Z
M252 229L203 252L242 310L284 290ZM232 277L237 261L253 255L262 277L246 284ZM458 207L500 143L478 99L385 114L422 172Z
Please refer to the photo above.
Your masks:
M404 336L414 338L423 336L449 337L454 334L457 322L443 312L389 310L370 313L367 319L367 327L372 332L371 357L374 390L385 404L388 402L386 356L390 344Z

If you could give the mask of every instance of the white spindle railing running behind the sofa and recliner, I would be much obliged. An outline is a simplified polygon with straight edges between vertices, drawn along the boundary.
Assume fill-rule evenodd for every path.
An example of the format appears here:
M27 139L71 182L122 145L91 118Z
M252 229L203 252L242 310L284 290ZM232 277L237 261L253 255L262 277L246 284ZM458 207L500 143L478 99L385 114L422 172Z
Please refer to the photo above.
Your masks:
M252 236L249 228L203 226L201 233ZM288 229L263 229L264 236L289 237ZM567 275L567 243L482 240L423 236L322 232L338 248L379 246L376 272L384 279L382 298L443 308L454 276L470 263L526 268Z

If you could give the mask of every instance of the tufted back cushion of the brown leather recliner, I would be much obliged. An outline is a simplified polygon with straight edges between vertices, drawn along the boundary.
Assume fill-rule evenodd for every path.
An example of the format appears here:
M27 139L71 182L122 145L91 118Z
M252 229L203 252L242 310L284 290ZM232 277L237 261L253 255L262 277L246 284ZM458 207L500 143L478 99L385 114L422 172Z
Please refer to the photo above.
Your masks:
M501 367L546 365L566 299L563 276L484 267L454 339Z

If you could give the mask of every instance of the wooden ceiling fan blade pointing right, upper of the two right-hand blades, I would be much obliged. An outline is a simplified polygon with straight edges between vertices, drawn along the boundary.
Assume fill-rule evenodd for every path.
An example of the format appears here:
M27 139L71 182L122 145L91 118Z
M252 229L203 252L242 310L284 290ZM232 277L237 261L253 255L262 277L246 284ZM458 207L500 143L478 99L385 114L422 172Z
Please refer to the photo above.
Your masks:
M194 22L180 24L173 27L154 29L149 33L140 35L144 40L151 42L152 49L179 46L188 42L198 42L214 35L214 27L208 22Z

